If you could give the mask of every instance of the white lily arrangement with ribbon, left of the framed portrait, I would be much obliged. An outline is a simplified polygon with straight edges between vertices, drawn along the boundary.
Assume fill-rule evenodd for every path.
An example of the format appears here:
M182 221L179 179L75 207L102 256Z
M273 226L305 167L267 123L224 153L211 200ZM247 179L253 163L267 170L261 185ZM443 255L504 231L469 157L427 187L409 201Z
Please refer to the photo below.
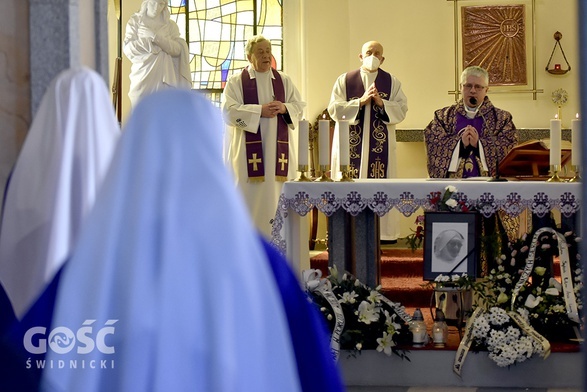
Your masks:
M326 279L344 314L340 348L349 350L352 356L362 350L374 349L388 356L394 353L409 360L399 346L411 342L412 335L407 323L398 315L398 308L385 301L380 293L381 286L369 288L348 273L339 277L336 266L329 267L329 270L330 275ZM334 309L319 292L310 291L309 294L333 332L336 326ZM405 314L403 306L399 309Z

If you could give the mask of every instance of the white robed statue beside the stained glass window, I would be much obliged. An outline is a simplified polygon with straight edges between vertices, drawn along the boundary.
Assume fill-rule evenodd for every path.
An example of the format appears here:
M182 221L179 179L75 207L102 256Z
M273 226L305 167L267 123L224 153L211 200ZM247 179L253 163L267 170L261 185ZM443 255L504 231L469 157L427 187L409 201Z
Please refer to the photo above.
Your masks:
M191 88L188 46L170 19L167 1L143 0L126 25L124 54L132 62L128 96L133 107L157 90Z

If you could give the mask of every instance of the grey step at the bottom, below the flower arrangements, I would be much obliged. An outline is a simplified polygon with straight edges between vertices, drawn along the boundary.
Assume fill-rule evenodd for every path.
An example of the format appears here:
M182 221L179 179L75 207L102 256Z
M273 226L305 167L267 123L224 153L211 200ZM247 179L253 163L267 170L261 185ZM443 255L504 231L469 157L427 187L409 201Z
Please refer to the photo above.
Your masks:
M583 353L553 352L546 359L531 359L500 368L486 352L469 352L461 377L453 372L455 351L410 350L410 361L375 350L356 358L341 351L339 364L349 391L366 387L494 387L577 388L583 386Z

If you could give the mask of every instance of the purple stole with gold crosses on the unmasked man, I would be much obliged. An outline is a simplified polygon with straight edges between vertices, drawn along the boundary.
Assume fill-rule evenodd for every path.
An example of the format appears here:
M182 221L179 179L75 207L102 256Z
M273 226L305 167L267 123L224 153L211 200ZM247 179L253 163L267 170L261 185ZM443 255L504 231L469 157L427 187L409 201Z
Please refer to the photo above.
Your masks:
M285 87L279 72L271 68L273 72L273 94L276 101L285 102ZM247 105L258 105L257 79L251 79L247 69L243 69L241 76L243 86L243 100ZM275 178L277 181L287 181L289 163L289 135L287 123L282 116L277 116L277 156L275 157ZM249 181L265 180L265 162L263 160L263 140L261 138L261 125L257 133L245 132L245 151L247 156L247 172Z

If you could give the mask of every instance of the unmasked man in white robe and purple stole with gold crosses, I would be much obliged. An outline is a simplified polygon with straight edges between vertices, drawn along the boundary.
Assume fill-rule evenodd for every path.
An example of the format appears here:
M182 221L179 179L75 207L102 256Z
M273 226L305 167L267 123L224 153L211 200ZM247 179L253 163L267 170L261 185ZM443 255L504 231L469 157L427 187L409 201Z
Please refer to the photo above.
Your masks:
M257 35L245 50L250 65L228 80L222 94L226 161L255 225L270 237L283 182L295 178L293 131L306 104L291 79L272 67L271 42Z

